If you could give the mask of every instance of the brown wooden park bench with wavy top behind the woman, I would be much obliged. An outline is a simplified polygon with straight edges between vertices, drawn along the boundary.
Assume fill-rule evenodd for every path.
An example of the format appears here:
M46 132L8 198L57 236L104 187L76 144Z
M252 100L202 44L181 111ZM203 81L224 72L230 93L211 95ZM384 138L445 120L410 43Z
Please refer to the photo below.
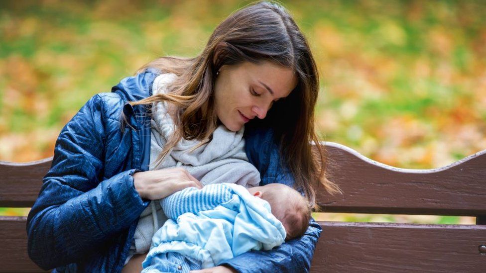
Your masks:
M326 143L344 194L325 212L475 216L476 225L319 222L312 272L486 272L486 150L433 170L393 168ZM52 158L0 162L0 207L30 207ZM26 217L0 216L0 272L41 272L27 256Z

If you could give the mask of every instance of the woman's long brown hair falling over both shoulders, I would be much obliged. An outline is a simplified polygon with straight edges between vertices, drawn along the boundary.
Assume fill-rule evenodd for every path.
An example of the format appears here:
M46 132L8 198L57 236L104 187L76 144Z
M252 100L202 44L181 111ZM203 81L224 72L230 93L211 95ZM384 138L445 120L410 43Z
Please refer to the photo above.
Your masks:
M178 77L165 94L155 94L130 102L131 105L167 101L176 106L176 125L162 153L161 162L181 139L208 141L218 126L214 112L216 72L223 65L270 61L295 71L296 88L285 99L274 103L267 117L252 120L252 126L274 130L280 144L281 164L288 166L295 180L315 208L320 184L330 193L339 187L325 175L325 151L314 130L314 107L319 92L319 76L309 44L288 11L279 3L262 1L249 4L220 23L195 58L162 57L139 69L156 68ZM251 124L253 123L253 124ZM314 141L315 149L312 149Z

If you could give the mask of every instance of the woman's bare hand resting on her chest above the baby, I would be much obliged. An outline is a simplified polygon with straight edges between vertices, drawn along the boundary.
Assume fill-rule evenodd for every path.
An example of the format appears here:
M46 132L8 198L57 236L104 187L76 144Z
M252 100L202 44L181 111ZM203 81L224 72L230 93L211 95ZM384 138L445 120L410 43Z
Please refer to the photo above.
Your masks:
M164 198L186 187L203 187L184 168L134 173L133 184L140 197L150 200Z

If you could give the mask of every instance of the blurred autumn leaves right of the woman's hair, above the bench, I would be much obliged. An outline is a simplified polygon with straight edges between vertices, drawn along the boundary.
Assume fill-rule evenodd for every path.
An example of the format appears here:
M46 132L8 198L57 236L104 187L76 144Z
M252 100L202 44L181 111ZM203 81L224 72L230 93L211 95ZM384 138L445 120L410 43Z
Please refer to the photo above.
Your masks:
M326 140L402 168L486 148L486 3L326 1L299 12L311 9L327 10L308 31Z

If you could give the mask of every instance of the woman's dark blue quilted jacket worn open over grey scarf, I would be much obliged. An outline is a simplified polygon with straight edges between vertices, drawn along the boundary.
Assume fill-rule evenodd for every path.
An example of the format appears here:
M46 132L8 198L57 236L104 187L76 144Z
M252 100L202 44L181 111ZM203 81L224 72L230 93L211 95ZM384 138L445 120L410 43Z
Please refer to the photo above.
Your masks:
M132 175L147 171L150 159L150 115L146 106L127 101L150 96L157 75L149 69L123 79L112 92L94 95L61 130L27 218L28 254L40 268L121 272L138 217L148 205ZM121 122L122 111L127 123ZM293 183L280 167L271 130L245 129L245 140L262 184ZM311 220L300 239L244 253L226 265L239 272L308 272L320 233Z

